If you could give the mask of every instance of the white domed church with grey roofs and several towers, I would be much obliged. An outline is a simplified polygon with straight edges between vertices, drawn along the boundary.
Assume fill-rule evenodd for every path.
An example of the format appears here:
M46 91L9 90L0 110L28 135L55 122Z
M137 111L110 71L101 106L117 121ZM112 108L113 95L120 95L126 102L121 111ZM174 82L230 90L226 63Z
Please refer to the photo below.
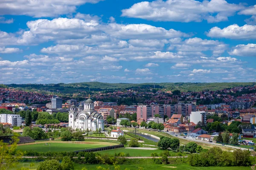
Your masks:
M104 120L100 113L94 110L94 103L90 99L87 99L83 105L79 105L76 108L75 105L70 107L69 111L69 127L74 130L79 129L82 131L91 130L96 131L96 129L104 130Z

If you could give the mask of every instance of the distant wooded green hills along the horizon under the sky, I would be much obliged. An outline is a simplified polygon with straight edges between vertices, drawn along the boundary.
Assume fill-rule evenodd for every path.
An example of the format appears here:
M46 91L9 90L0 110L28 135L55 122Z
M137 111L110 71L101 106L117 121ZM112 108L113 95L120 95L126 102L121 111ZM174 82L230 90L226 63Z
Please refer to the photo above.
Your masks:
M202 91L202 90L222 90L224 88L233 88L237 86L253 86L256 82L217 82L217 83L103 83L103 82L80 82L80 83L59 83L59 84L10 84L9 88L17 88L25 91L44 91L45 93L73 94L78 92L89 91L113 91L123 89L148 89L158 88L161 90L173 91Z

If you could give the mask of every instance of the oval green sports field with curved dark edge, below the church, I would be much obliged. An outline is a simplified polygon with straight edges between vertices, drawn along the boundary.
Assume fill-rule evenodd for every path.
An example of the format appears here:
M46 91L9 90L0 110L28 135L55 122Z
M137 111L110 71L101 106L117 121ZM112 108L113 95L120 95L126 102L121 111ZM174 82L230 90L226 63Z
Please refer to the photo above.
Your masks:
M46 143L48 143L46 145ZM29 144L20 144L17 149L18 150L35 150L38 152L71 152L75 150L83 150L83 149L91 149L96 147L105 147L116 145L115 143L108 142L61 142L61 141L47 141L47 142L38 142L38 143L29 143Z

